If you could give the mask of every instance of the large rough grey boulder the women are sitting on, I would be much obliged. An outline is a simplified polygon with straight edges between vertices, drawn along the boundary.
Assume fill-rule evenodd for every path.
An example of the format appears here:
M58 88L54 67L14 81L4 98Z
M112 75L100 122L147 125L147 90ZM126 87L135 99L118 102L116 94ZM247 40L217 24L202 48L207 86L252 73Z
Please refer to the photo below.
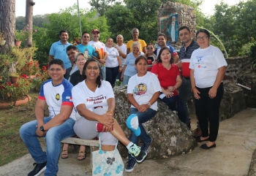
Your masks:
M127 99L127 89L124 86L114 88L116 96L116 120L120 123L124 133L129 137L126 120L129 115L130 104ZM167 105L158 101L157 115L143 123L153 142L148 149L147 158L168 158L181 153L188 153L197 146L187 126L178 120L178 116L168 110ZM127 148L118 144L121 156L127 157Z

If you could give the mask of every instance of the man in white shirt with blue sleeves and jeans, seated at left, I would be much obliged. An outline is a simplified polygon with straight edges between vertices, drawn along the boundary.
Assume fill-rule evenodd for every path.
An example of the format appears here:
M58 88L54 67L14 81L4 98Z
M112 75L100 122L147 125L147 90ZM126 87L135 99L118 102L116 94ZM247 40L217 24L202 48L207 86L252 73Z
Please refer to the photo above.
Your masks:
M75 135L75 108L72 103L72 84L64 79L66 69L63 61L53 59L49 63L50 80L42 84L35 106L37 120L20 127L20 137L29 149L35 165L28 176L39 175L45 169L45 175L56 175L61 153L61 140ZM44 117L48 105L49 117ZM37 137L45 137L47 150L42 151Z

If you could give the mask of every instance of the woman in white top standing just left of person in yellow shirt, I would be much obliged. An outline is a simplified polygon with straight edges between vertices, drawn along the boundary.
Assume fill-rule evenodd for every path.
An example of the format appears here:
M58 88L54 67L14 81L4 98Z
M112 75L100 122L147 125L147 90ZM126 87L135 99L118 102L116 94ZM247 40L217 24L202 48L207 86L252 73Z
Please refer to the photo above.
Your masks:
M120 58L121 58L121 68L123 69L124 68L125 59L127 58L127 45L125 45L123 43L124 42L124 37L121 34L119 34L116 37L116 42L117 42L117 45L115 47L116 47L116 50L118 50L118 53L120 55ZM116 80L121 80L121 72L118 72Z

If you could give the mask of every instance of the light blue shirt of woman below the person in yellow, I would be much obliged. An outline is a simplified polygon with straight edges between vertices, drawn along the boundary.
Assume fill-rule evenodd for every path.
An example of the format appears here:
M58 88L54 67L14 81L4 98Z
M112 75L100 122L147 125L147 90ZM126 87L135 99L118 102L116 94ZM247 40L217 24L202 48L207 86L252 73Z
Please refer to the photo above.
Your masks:
M140 51L140 56L143 56L144 53ZM127 54L127 59L125 60L124 65L127 65L127 68L124 70L124 75L132 77L133 75L137 74L137 69L135 69L135 56L133 53Z

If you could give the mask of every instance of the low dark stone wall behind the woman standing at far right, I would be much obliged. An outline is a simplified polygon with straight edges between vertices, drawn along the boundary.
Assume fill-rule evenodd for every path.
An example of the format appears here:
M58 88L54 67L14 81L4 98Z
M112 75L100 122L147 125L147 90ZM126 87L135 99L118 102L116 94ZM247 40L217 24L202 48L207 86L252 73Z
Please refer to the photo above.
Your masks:
M219 108L219 120L232 118L246 107L256 107L256 70L251 69L249 57L226 58L226 61L227 70L223 81L224 95ZM251 87L252 90L241 88L236 83ZM195 112L193 103L189 103L189 110Z

